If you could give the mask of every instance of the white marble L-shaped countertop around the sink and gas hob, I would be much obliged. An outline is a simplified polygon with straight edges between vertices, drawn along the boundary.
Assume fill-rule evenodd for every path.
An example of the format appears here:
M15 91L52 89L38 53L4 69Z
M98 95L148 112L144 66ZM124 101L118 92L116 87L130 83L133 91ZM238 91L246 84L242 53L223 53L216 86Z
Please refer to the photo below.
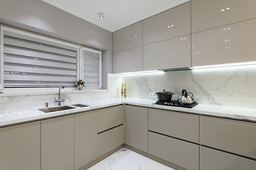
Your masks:
M15 125L18 123L26 123L35 120L43 120L45 118L54 118L60 115L68 115L73 113L81 113L82 111L91 111L99 108L106 108L110 106L117 106L123 103L134 105L134 106L143 106L148 108L160 108L169 111L180 111L184 113L194 113L199 115L211 115L221 118L232 118L236 120L246 120L256 122L256 109L250 108L233 108L233 107L225 107L225 106L210 106L198 104L194 108L180 108L173 106L160 106L153 105L155 103L154 100L145 100L138 98L109 98L105 100L99 101L87 101L82 102L81 104L88 105L87 108L76 108L74 106L73 109L66 111L56 111L52 113L43 113L42 111L38 111L36 108L31 109L23 109L16 111L2 111L0 112L0 127L4 127L7 125ZM77 104L77 103L74 103ZM70 105L67 105L70 106Z

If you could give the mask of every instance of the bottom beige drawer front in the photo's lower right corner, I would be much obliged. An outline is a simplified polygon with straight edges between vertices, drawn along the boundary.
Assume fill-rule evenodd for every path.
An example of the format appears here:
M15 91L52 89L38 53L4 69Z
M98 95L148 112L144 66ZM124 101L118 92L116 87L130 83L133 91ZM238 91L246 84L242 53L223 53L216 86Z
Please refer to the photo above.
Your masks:
M255 170L256 162L233 154L201 147L201 170Z

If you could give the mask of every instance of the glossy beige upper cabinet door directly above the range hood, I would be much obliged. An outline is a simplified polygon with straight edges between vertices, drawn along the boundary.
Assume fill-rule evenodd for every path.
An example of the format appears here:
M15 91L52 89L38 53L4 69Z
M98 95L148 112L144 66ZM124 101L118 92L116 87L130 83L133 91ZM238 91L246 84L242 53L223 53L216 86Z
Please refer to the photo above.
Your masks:
M143 70L191 67L191 35L143 46Z

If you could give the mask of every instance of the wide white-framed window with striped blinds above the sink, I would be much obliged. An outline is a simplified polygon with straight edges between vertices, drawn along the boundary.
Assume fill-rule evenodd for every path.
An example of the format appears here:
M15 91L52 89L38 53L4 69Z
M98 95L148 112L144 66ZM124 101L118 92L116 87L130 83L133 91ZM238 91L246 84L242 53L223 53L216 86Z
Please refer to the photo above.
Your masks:
M101 88L101 51L4 26L0 35L0 91L71 87L78 79L86 88Z

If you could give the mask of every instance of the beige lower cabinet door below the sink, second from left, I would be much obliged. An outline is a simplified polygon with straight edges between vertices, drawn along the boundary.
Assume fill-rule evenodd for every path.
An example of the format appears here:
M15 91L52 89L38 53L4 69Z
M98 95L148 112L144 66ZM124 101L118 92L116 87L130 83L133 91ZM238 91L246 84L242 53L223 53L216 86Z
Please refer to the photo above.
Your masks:
M74 169L74 115L41 121L41 169Z

